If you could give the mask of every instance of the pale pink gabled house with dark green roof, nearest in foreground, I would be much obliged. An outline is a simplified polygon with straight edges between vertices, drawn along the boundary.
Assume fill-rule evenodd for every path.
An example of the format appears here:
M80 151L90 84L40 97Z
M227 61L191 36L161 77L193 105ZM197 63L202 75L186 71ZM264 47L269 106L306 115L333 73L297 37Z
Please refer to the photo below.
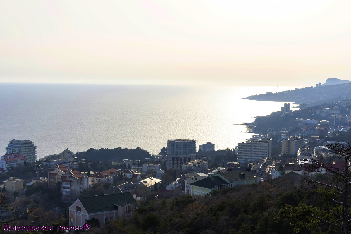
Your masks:
M118 193L78 198L69 209L69 225L83 226L87 220L98 219L105 222L123 219L139 208L131 193Z

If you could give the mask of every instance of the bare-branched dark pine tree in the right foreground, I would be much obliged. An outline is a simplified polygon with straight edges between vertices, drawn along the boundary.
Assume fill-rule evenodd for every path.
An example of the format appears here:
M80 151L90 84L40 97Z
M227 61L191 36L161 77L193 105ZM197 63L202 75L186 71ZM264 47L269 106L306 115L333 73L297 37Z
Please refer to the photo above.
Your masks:
M341 201L336 200L336 199L331 199L333 202L337 203L339 206L342 206L342 212L340 214L340 219L338 220L325 220L318 215L313 215L313 218L322 221L326 223L327 225L331 225L334 227L338 227L341 229L342 234L347 234L347 227L351 226L351 217L350 217L350 207L351 203L349 202L349 198L351 196L351 173L350 173L350 162L349 160L351 159L351 146L350 145L343 145L340 143L335 143L332 145L327 145L329 148L330 152L336 154L336 158L342 159L343 160L343 166L342 168L336 168L333 167L330 164L325 163L326 160L322 157L319 159L313 160L313 163L308 163L307 164L307 169L309 171L318 171L318 170L326 170L330 172L333 177L336 179L336 183L326 183L326 182L321 182L321 181L316 181L316 180L308 180L309 183L312 183L314 186L317 185L322 185L325 187L329 187L332 189L335 189L335 195L337 196L338 194L342 195ZM334 196L334 198L336 198ZM342 221L340 223L340 221Z

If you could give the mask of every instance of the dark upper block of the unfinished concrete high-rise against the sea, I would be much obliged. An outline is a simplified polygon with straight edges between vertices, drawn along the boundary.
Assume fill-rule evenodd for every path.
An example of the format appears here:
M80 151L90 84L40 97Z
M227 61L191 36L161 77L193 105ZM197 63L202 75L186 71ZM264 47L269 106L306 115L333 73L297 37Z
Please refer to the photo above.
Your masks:
M196 154L196 140L187 140L187 139L167 140L167 154L173 154L173 155Z

